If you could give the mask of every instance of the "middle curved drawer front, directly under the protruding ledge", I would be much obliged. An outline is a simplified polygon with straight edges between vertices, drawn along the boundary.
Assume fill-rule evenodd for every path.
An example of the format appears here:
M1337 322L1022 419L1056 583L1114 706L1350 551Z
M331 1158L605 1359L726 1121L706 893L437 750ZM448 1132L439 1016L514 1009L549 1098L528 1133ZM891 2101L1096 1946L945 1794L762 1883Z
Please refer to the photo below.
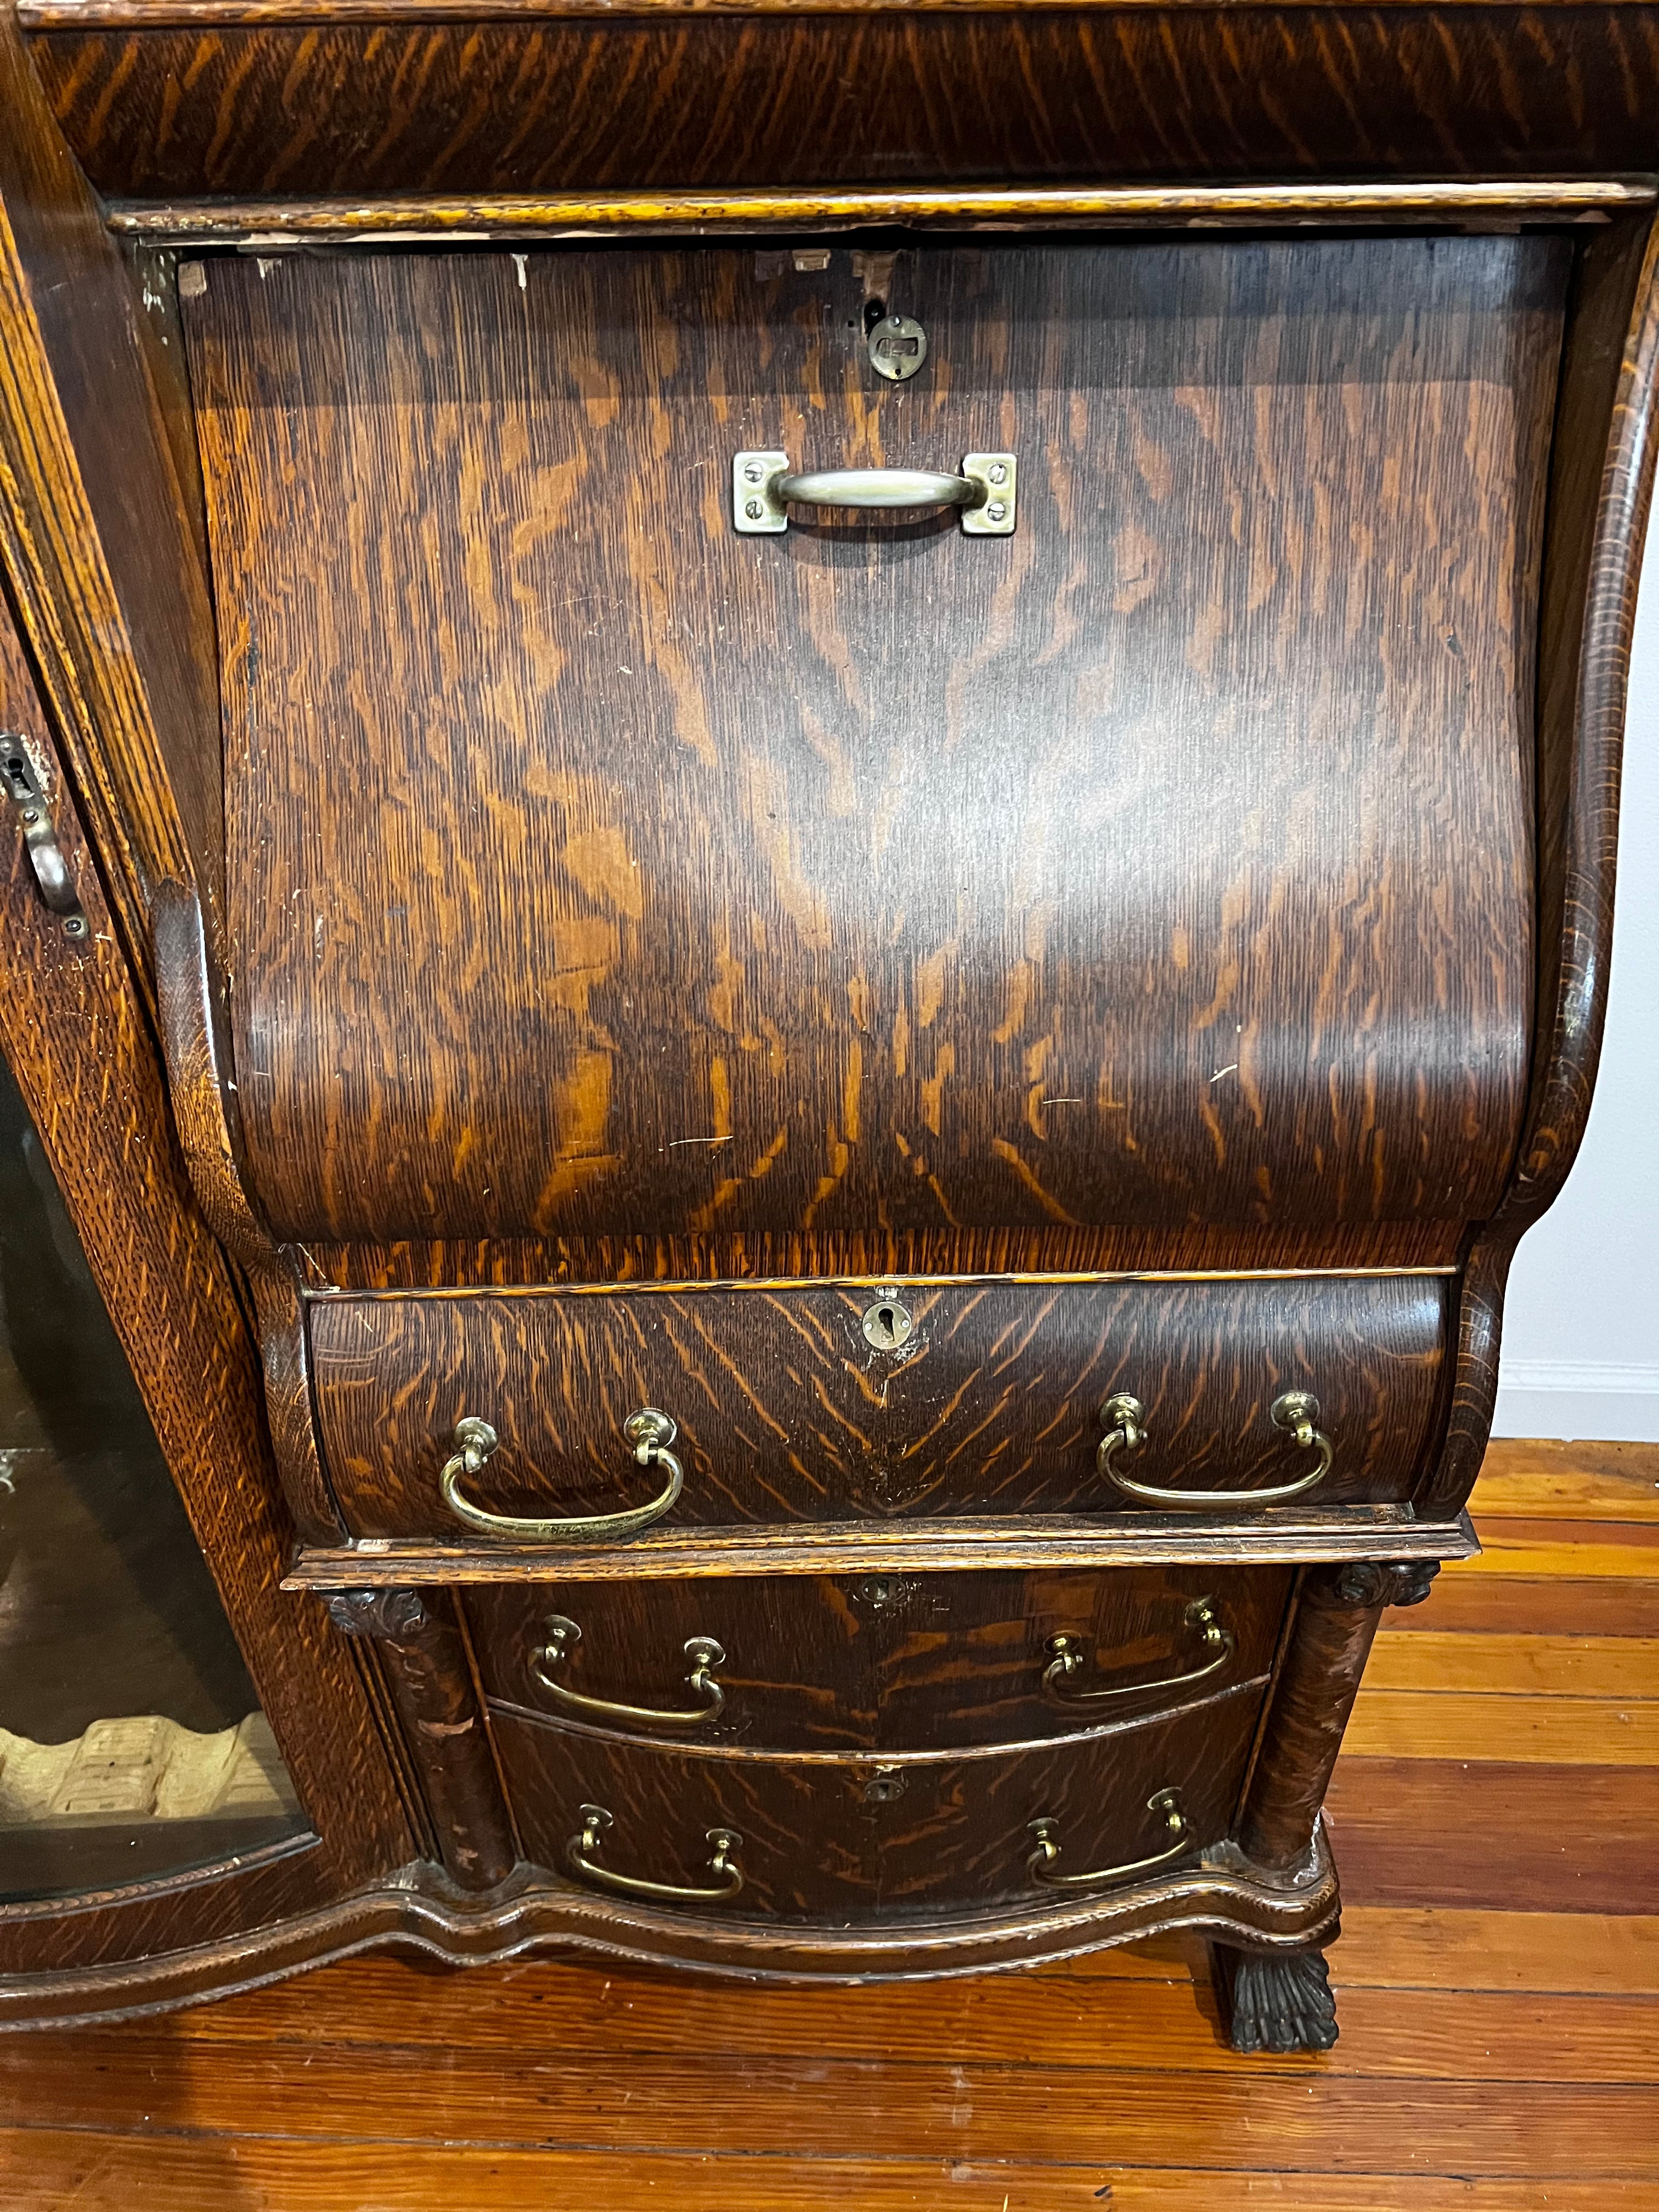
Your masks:
M1121 1728L1256 1681L1287 1593L1290 1568L1188 1566L484 1586L465 1604L498 1710L690 1750L925 1752Z

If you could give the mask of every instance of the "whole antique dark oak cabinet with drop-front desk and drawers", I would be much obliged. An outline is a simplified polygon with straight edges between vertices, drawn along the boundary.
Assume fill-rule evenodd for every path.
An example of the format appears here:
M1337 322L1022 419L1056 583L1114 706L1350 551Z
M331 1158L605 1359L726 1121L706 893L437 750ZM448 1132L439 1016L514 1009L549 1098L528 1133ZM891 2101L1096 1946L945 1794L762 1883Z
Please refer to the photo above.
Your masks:
M1329 2044L1659 7L0 7L0 2011L1190 1927Z

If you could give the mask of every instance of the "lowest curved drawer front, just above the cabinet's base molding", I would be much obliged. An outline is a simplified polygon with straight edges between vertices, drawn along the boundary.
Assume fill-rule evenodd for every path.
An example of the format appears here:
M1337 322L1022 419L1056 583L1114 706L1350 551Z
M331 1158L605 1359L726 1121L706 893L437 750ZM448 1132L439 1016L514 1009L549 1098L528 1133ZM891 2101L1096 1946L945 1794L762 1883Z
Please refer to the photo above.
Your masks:
M668 1752L502 1714L495 1743L524 1851L555 1874L604 1887L586 1871L597 1865L686 1891L657 1905L845 1924L1075 1898L1190 1865L1232 1825L1259 1710L1261 1688L1245 1686L1146 1728L980 1759ZM1166 1792L1179 1832L1152 1807ZM582 1849L588 1805L608 1820ZM1044 1885L1040 1820L1060 1847L1051 1871L1099 1880ZM741 1891L710 1832L739 1838L726 1856Z

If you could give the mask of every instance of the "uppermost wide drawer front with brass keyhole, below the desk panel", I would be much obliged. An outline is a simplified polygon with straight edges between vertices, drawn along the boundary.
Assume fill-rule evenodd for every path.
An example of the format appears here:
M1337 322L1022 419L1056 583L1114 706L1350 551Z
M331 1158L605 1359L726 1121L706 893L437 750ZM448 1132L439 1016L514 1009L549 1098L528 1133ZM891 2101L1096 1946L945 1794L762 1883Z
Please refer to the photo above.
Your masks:
M334 1296L310 1329L330 1475L367 1537L458 1533L440 1471L462 1418L498 1438L460 1486L489 1515L641 1506L664 1475L633 1460L639 1407L672 1416L686 1471L659 1526L1128 1509L1097 1469L1115 1391L1146 1436L1115 1467L1208 1495L1312 1473L1272 1409L1314 1391L1332 1467L1305 1500L1340 1504L1405 1500L1429 1460L1447 1281Z

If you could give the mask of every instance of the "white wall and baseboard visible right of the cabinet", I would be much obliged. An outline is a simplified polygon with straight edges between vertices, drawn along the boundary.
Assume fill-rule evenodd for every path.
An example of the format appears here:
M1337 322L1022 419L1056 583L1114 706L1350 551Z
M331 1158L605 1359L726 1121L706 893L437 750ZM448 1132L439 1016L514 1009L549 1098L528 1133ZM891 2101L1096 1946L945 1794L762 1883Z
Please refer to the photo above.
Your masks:
M1515 1254L1493 1427L1659 1442L1659 509L1630 668L1601 1075L1577 1166Z

